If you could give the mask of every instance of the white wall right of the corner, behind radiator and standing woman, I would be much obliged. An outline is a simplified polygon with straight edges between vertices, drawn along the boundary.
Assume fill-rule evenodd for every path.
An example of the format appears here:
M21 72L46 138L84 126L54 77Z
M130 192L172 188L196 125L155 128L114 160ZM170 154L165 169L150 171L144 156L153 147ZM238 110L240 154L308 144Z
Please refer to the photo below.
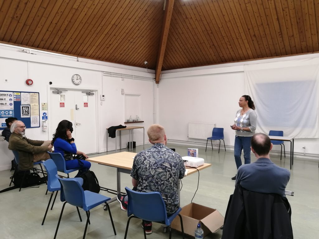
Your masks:
M165 127L169 140L189 145L194 145L194 140L189 141L187 137L189 122L216 123L216 127L224 128L226 147L233 150L235 134L230 125L239 109L239 98L247 93L243 66L317 57L319 54L307 54L164 71L157 88L158 122ZM201 142L206 144L206 140ZM318 143L319 139L295 139L295 156L318 159ZM290 143L285 145L289 152ZM280 154L280 146L275 145L274 150Z

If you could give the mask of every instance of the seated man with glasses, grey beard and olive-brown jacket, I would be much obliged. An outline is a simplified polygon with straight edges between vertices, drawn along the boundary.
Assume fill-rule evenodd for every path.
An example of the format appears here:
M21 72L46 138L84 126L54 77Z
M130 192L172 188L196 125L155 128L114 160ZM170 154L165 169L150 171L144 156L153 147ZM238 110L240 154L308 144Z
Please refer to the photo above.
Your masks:
M26 138L26 126L22 121L14 121L10 131L12 134L9 139L8 148L19 152L19 170L32 169L33 162L50 158L47 151L52 152L51 141L30 140Z

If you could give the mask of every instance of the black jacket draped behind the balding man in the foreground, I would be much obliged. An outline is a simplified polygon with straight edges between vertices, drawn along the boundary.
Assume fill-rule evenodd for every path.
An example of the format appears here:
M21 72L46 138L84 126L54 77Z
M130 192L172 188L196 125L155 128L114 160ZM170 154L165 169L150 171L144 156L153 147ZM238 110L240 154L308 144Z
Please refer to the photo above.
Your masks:
M287 199L275 193L251 192L237 184L228 202L222 239L293 238L290 216Z

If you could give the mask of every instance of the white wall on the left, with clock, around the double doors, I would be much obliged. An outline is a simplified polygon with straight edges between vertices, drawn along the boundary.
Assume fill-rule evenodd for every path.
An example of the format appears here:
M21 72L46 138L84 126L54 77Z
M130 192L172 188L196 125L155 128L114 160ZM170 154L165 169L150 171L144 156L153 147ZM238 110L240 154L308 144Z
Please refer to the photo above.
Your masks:
M124 125L125 101L124 95L121 95L121 89L124 89L126 93L141 94L143 114L140 117L145 122L130 125L145 126L147 129L154 123L154 81L150 80L154 78L153 71L146 72L146 69L143 68L114 63L108 65L99 61L77 62L73 58L71 60L68 57L59 58L57 54L51 56L42 52L37 54L34 51L34 53L17 52L12 46L7 47L0 44L0 91L39 92L40 104L48 102L48 112L50 112L50 87L97 90L99 95L97 102L99 152L106 151L106 128L119 124ZM112 72L120 76L122 74L124 80L122 81L119 75L103 76L103 72ZM71 82L73 74L82 76L81 85L76 86ZM135 76L135 79L131 79L130 76ZM141 80L138 77L148 77L149 80ZM33 85L26 85L26 79L32 79ZM7 83L4 83L5 80ZM49 85L49 82L52 82L52 85ZM105 94L105 101L100 101L100 94ZM63 116L48 114L48 131L43 132L41 127L29 128L26 129L26 136L37 140L52 139L56 128L56 126L50 126L50 119L53 117L63 120ZM122 134L122 148L126 147L128 141L128 131L125 131ZM143 130L134 130L134 141L137 145L143 144ZM145 141L147 143L147 136ZM108 150L115 150L114 139L109 138ZM0 170L10 169L13 156L8 150L7 141L0 142L0 155L2 155Z

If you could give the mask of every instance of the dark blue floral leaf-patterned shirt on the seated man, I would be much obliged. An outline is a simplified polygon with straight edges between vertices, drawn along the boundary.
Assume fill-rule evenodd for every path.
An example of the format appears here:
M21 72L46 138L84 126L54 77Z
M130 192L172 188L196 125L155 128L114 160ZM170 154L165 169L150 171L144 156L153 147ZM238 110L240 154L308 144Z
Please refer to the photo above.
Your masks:
M160 192L167 214L178 209L178 183L184 175L182 157L161 143L139 152L131 170L131 177L138 181L137 192Z

